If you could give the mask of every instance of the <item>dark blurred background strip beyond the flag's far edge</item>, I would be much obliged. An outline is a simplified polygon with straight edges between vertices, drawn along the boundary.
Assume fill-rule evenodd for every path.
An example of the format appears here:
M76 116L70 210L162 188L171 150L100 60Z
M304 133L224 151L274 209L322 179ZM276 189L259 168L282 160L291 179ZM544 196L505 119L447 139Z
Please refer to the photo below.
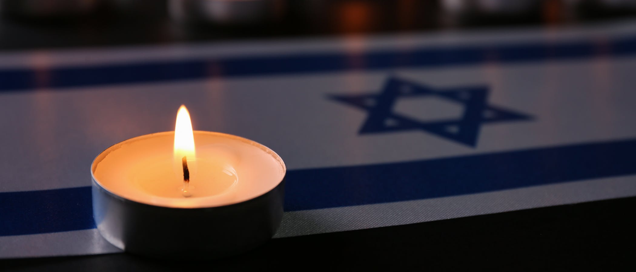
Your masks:
M0 49L554 27L636 15L633 0L0 0Z

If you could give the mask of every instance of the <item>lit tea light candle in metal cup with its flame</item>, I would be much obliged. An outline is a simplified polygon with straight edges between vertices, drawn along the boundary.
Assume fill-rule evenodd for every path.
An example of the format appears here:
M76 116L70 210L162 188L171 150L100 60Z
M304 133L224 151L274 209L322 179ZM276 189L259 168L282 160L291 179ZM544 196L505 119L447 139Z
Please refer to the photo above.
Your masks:
M285 172L259 143L193 131L181 106L174 132L127 139L95 158L93 217L106 240L129 252L229 256L273 236Z

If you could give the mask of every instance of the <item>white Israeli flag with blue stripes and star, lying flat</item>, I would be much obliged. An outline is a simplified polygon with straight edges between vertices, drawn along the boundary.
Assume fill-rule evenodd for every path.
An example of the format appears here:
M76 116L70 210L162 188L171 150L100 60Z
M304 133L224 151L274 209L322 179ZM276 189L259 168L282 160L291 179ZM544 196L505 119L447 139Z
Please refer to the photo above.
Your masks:
M118 249L90 162L174 127L285 160L276 237L636 195L636 23L0 55L0 257Z

